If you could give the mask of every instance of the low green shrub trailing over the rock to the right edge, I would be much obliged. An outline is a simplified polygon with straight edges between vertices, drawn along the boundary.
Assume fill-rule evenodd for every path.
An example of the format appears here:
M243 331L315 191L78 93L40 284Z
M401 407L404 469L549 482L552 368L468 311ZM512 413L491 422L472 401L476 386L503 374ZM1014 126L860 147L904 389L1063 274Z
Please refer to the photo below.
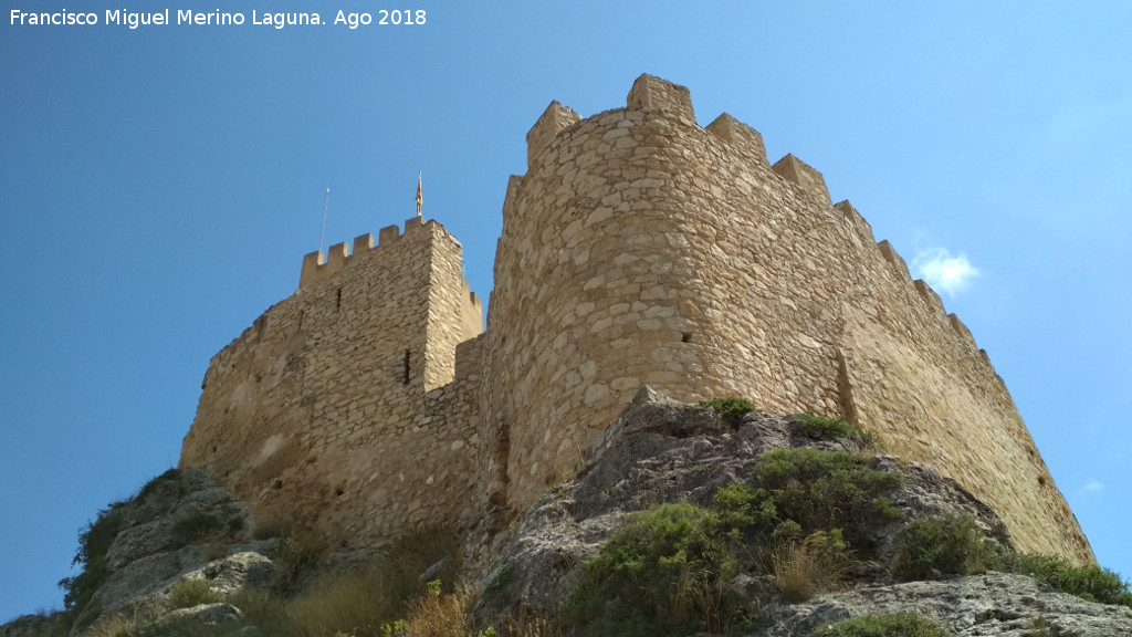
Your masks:
M1034 553L1003 553L989 564L994 570L1028 575L1063 593L1090 602L1132 608L1129 583L1097 564L1075 566L1064 558Z

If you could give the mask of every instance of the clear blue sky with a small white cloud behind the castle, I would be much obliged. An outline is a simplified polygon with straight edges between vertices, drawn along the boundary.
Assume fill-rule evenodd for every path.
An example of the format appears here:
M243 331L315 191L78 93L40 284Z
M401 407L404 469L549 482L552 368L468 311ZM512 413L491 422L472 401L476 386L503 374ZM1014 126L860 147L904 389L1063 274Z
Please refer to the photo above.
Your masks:
M27 3L33 5L33 3ZM825 176L1006 381L1101 564L1132 576L1132 5L438 2L423 25L251 25L243 0L0 14L0 621L58 606L79 527L177 462L209 358L302 255L424 212L482 297L551 100L642 73ZM243 12L108 26L106 9ZM374 2L275 1L345 12Z

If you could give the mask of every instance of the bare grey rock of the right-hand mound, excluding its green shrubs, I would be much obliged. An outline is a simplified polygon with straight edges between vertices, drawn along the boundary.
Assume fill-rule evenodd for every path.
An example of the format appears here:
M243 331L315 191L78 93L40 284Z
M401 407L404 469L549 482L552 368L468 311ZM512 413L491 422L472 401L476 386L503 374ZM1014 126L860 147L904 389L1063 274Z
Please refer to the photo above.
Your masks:
M711 502L722 486L747 482L756 460L777 449L813 447L860 451L851 440L811 440L789 418L748 414L732 427L714 411L667 400L643 388L586 453L588 468L556 485L528 512L479 581L475 613L534 611L554 614L576 588L586 560L621 528L634 511L663 502ZM935 469L876 456L873 468L899 472L904 486L891 495L909 518L969 515L1004 547L1011 541L993 510ZM899 525L880 530L881 561L895 550ZM1024 576L987 574L947 581L895 584L883 569L881 585L788 604L766 576L741 574L731 588L758 609L763 627L754 635L803 636L816 627L868 612L914 610L962 636L1021 637L1040 613L1062 632L1115 637L1132 635L1132 611L1094 604L1046 591Z

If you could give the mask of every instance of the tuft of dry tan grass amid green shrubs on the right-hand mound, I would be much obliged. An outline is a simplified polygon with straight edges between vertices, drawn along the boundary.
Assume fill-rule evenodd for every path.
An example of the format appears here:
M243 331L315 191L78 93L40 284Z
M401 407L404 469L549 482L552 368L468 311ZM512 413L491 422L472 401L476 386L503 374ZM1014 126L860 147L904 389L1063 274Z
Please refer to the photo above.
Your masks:
M800 602L839 587L855 567L843 547L840 540L822 532L780 544L771 554L771 575L779 592Z

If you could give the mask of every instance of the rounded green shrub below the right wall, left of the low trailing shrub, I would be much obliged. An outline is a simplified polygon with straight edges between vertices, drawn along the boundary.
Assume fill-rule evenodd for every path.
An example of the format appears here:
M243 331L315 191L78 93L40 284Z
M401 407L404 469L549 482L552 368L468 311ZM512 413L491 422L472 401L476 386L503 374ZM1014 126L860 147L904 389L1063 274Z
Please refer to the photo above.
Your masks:
M904 580L984 572L994 544L970 516L911 520L900 532L894 575Z

